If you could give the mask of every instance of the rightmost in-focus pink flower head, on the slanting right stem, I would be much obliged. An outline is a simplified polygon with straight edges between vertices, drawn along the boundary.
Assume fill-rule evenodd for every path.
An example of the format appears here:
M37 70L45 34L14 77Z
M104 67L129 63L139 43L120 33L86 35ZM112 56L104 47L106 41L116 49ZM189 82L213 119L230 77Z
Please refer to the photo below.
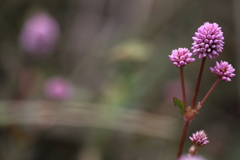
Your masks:
M214 68L210 67L210 70L215 76L227 82L231 81L231 78L236 76L233 73L235 69L226 61L216 62L216 66L214 66Z

